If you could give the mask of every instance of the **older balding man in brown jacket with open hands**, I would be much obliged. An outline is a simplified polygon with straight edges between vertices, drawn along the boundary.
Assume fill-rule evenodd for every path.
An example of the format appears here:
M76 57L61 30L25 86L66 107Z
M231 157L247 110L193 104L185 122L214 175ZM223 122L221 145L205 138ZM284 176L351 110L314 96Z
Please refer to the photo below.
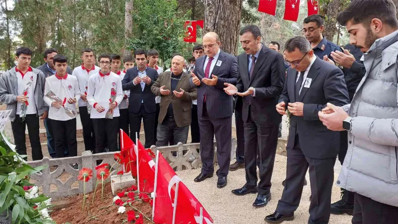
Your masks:
M187 143L191 124L192 101L197 99L197 89L191 85L191 75L183 72L184 58L174 56L171 72L163 72L152 85L151 90L161 96L159 124L156 146L169 145L174 136L174 143Z

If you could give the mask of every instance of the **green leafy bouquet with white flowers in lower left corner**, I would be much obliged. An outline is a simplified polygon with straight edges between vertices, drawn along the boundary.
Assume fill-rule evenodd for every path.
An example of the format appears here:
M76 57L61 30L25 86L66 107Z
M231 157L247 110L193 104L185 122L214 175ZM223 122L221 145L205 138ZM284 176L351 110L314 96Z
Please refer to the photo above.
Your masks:
M55 224L48 218L49 198L38 195L37 187L23 189L32 186L29 176L43 168L24 164L0 135L0 214L11 211L13 224Z

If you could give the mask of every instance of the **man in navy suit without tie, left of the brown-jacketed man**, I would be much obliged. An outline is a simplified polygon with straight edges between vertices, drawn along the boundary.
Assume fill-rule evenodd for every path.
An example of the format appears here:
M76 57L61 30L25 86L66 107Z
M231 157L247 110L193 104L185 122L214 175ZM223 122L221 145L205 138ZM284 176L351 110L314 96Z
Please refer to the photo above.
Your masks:
M145 148L155 145L155 95L151 86L158 79L158 72L146 66L146 52L134 51L137 66L127 70L122 80L123 90L130 91L128 112L130 120L130 137L135 142L135 133L140 133L141 119L144 121Z

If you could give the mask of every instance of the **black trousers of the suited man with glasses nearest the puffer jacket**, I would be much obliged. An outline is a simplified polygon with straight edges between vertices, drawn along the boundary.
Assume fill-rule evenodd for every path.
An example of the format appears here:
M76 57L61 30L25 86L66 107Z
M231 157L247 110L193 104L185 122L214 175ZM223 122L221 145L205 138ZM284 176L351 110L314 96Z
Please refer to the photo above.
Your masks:
M276 211L284 216L294 214L300 203L305 173L309 167L311 202L308 224L327 224L330 218L333 167L336 158L312 159L305 157L300 148L298 135L296 135L294 147L288 147L287 153L286 183Z

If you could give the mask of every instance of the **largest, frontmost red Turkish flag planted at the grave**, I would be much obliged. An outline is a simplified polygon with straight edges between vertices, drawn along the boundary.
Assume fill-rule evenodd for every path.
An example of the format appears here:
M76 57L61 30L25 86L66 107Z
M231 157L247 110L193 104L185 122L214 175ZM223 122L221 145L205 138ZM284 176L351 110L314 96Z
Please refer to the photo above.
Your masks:
M158 159L158 177L155 193L155 216L153 222L171 224L173 223L174 198L176 184L178 182L178 198L176 208L175 223L182 224L199 224L200 208L203 206L198 199L188 190L187 186L177 176L176 172L171 168L169 163L159 153ZM203 224L212 224L213 220L208 213L203 211Z

